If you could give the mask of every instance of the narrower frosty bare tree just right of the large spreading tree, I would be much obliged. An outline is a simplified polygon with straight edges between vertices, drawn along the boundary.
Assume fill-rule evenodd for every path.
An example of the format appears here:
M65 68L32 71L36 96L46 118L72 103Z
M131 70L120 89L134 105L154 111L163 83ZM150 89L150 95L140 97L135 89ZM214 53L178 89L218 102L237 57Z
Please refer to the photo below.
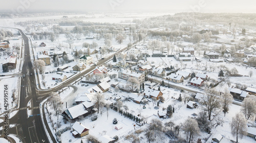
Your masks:
M233 102L233 96L230 94L230 92L226 89L225 93L221 95L221 103L222 103L222 109L224 112L224 117L226 116L226 112L229 110L229 105Z

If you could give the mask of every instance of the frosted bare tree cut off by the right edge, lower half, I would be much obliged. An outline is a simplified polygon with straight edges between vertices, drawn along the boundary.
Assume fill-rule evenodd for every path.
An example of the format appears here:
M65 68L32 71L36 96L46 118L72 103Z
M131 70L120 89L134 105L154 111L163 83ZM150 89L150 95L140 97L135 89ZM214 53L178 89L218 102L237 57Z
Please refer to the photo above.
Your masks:
M242 113L244 114L245 118L248 120L251 116L255 115L256 113L256 97L253 95L248 95L244 101L242 102Z

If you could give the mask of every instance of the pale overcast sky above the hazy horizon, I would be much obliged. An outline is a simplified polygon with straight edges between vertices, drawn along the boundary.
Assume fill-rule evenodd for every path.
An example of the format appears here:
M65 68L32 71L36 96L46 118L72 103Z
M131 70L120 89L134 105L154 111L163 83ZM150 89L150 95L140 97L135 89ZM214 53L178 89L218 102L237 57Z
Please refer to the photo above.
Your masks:
M242 12L256 13L255 0L0 0L0 11Z

